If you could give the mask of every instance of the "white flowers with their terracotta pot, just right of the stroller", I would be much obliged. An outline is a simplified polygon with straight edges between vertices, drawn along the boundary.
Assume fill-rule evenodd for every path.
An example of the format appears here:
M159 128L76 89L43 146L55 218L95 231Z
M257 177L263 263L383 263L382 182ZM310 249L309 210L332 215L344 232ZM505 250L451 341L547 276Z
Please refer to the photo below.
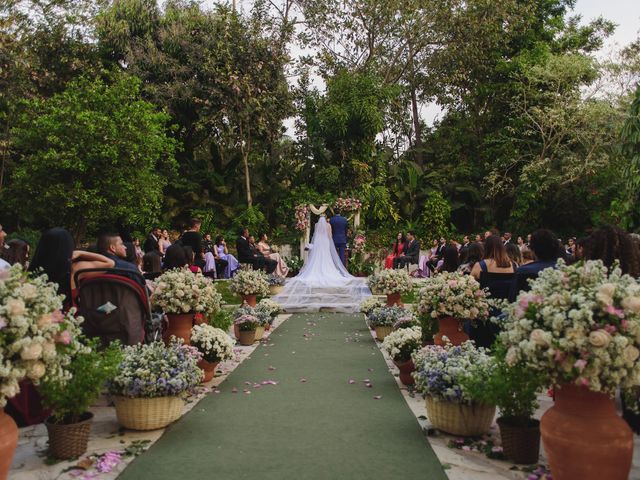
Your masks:
M182 338L186 345L191 337L194 316L201 314L208 319L220 311L222 296L213 282L201 273L187 269L174 269L160 275L155 281L151 296L154 308L167 315L168 326L163 339L168 343L172 336Z

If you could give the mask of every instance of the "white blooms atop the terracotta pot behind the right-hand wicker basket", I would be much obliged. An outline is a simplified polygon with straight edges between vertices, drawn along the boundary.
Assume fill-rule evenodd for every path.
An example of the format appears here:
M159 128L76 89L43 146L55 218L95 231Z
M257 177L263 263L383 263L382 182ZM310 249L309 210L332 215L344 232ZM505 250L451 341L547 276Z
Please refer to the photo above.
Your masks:
M431 318L454 317L475 323L489 316L487 292L471 275L441 273L426 279L418 312Z

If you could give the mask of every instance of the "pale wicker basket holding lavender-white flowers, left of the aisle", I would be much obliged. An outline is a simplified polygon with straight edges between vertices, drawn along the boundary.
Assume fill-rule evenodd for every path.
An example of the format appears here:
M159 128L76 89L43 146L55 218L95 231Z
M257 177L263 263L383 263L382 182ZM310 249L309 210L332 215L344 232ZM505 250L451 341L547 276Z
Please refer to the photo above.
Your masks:
M114 397L118 422L131 430L156 430L180 418L184 402L180 397Z

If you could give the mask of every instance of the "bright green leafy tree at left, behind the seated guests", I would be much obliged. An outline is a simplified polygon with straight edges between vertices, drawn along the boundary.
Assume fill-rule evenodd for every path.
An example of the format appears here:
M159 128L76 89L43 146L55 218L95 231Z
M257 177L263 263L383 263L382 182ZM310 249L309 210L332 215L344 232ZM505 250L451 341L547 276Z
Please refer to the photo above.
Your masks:
M112 80L81 78L29 102L13 131L20 158L3 200L31 224L63 225L82 239L158 215L175 164L169 117L140 98L139 79Z

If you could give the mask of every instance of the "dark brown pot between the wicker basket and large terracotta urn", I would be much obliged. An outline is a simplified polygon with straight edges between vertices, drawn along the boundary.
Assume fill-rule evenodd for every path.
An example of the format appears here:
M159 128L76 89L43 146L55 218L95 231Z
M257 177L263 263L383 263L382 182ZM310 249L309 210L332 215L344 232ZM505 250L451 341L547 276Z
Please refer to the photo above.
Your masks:
M540 421L529 419L528 425L518 425L511 419L498 418L500 439L505 457L515 463L532 465L540 457Z

